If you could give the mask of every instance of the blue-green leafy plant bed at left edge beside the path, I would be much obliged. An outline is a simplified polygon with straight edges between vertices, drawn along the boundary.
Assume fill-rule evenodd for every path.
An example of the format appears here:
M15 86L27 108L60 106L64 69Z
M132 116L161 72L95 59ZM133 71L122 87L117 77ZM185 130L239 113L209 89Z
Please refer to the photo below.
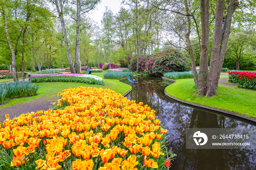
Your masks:
M30 81L18 81L0 84L0 101L4 103L8 98L33 96L39 89L38 85Z

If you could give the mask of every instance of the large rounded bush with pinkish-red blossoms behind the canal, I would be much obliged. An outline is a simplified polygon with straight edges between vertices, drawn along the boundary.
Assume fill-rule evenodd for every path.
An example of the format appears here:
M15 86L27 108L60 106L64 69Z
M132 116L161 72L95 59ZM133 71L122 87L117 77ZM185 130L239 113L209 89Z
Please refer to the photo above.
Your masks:
M136 71L136 58L130 65ZM190 63L181 51L166 47L154 55L145 55L139 61L139 71L151 75L163 75L167 72L185 72L190 70Z

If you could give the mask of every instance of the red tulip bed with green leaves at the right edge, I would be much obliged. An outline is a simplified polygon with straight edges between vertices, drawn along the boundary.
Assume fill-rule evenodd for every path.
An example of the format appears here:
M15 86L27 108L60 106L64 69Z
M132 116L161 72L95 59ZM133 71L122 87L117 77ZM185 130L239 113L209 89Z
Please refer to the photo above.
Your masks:
M229 72L229 82L244 89L256 90L256 72Z

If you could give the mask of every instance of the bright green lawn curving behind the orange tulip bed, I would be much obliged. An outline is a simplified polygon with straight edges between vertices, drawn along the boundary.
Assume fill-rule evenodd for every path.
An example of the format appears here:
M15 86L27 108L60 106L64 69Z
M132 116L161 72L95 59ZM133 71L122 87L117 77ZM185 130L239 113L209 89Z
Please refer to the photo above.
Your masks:
M103 78L103 73L106 71L103 71L101 73L92 73L92 75L97 75L99 77ZM5 79L6 80L6 79ZM85 86L85 87L97 87L97 88L103 88L103 89L111 89L116 91L117 93L124 94L128 92L128 90L131 89L131 86L124 84L118 80L112 80L112 79L105 79L103 78L103 81L105 82L105 86L101 85L90 85L90 84L84 84L84 83L76 83L76 82L44 82L44 83L35 83L40 86L38 90L37 96L32 97L22 97L22 98L16 98L11 99L8 101L5 105L0 105L1 107L8 107L14 104L18 103L26 103L26 101L33 100L35 98L53 98L57 96L58 92L62 92L64 89L68 88L77 88L79 86Z

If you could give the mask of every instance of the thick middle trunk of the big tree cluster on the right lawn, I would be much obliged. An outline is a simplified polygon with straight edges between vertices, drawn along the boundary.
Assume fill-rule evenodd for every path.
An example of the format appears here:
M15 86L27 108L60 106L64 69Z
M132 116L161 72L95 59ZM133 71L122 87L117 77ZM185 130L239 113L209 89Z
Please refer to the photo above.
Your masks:
M207 84L206 84L206 88L207 88L206 97L214 96L215 91L216 91L215 85L216 85L216 80L217 80L217 75L218 75L216 70L218 70L219 52L221 49L223 12L224 12L224 0L217 0L214 39L213 39L213 43L212 43L210 70L209 70L209 75L207 77Z

